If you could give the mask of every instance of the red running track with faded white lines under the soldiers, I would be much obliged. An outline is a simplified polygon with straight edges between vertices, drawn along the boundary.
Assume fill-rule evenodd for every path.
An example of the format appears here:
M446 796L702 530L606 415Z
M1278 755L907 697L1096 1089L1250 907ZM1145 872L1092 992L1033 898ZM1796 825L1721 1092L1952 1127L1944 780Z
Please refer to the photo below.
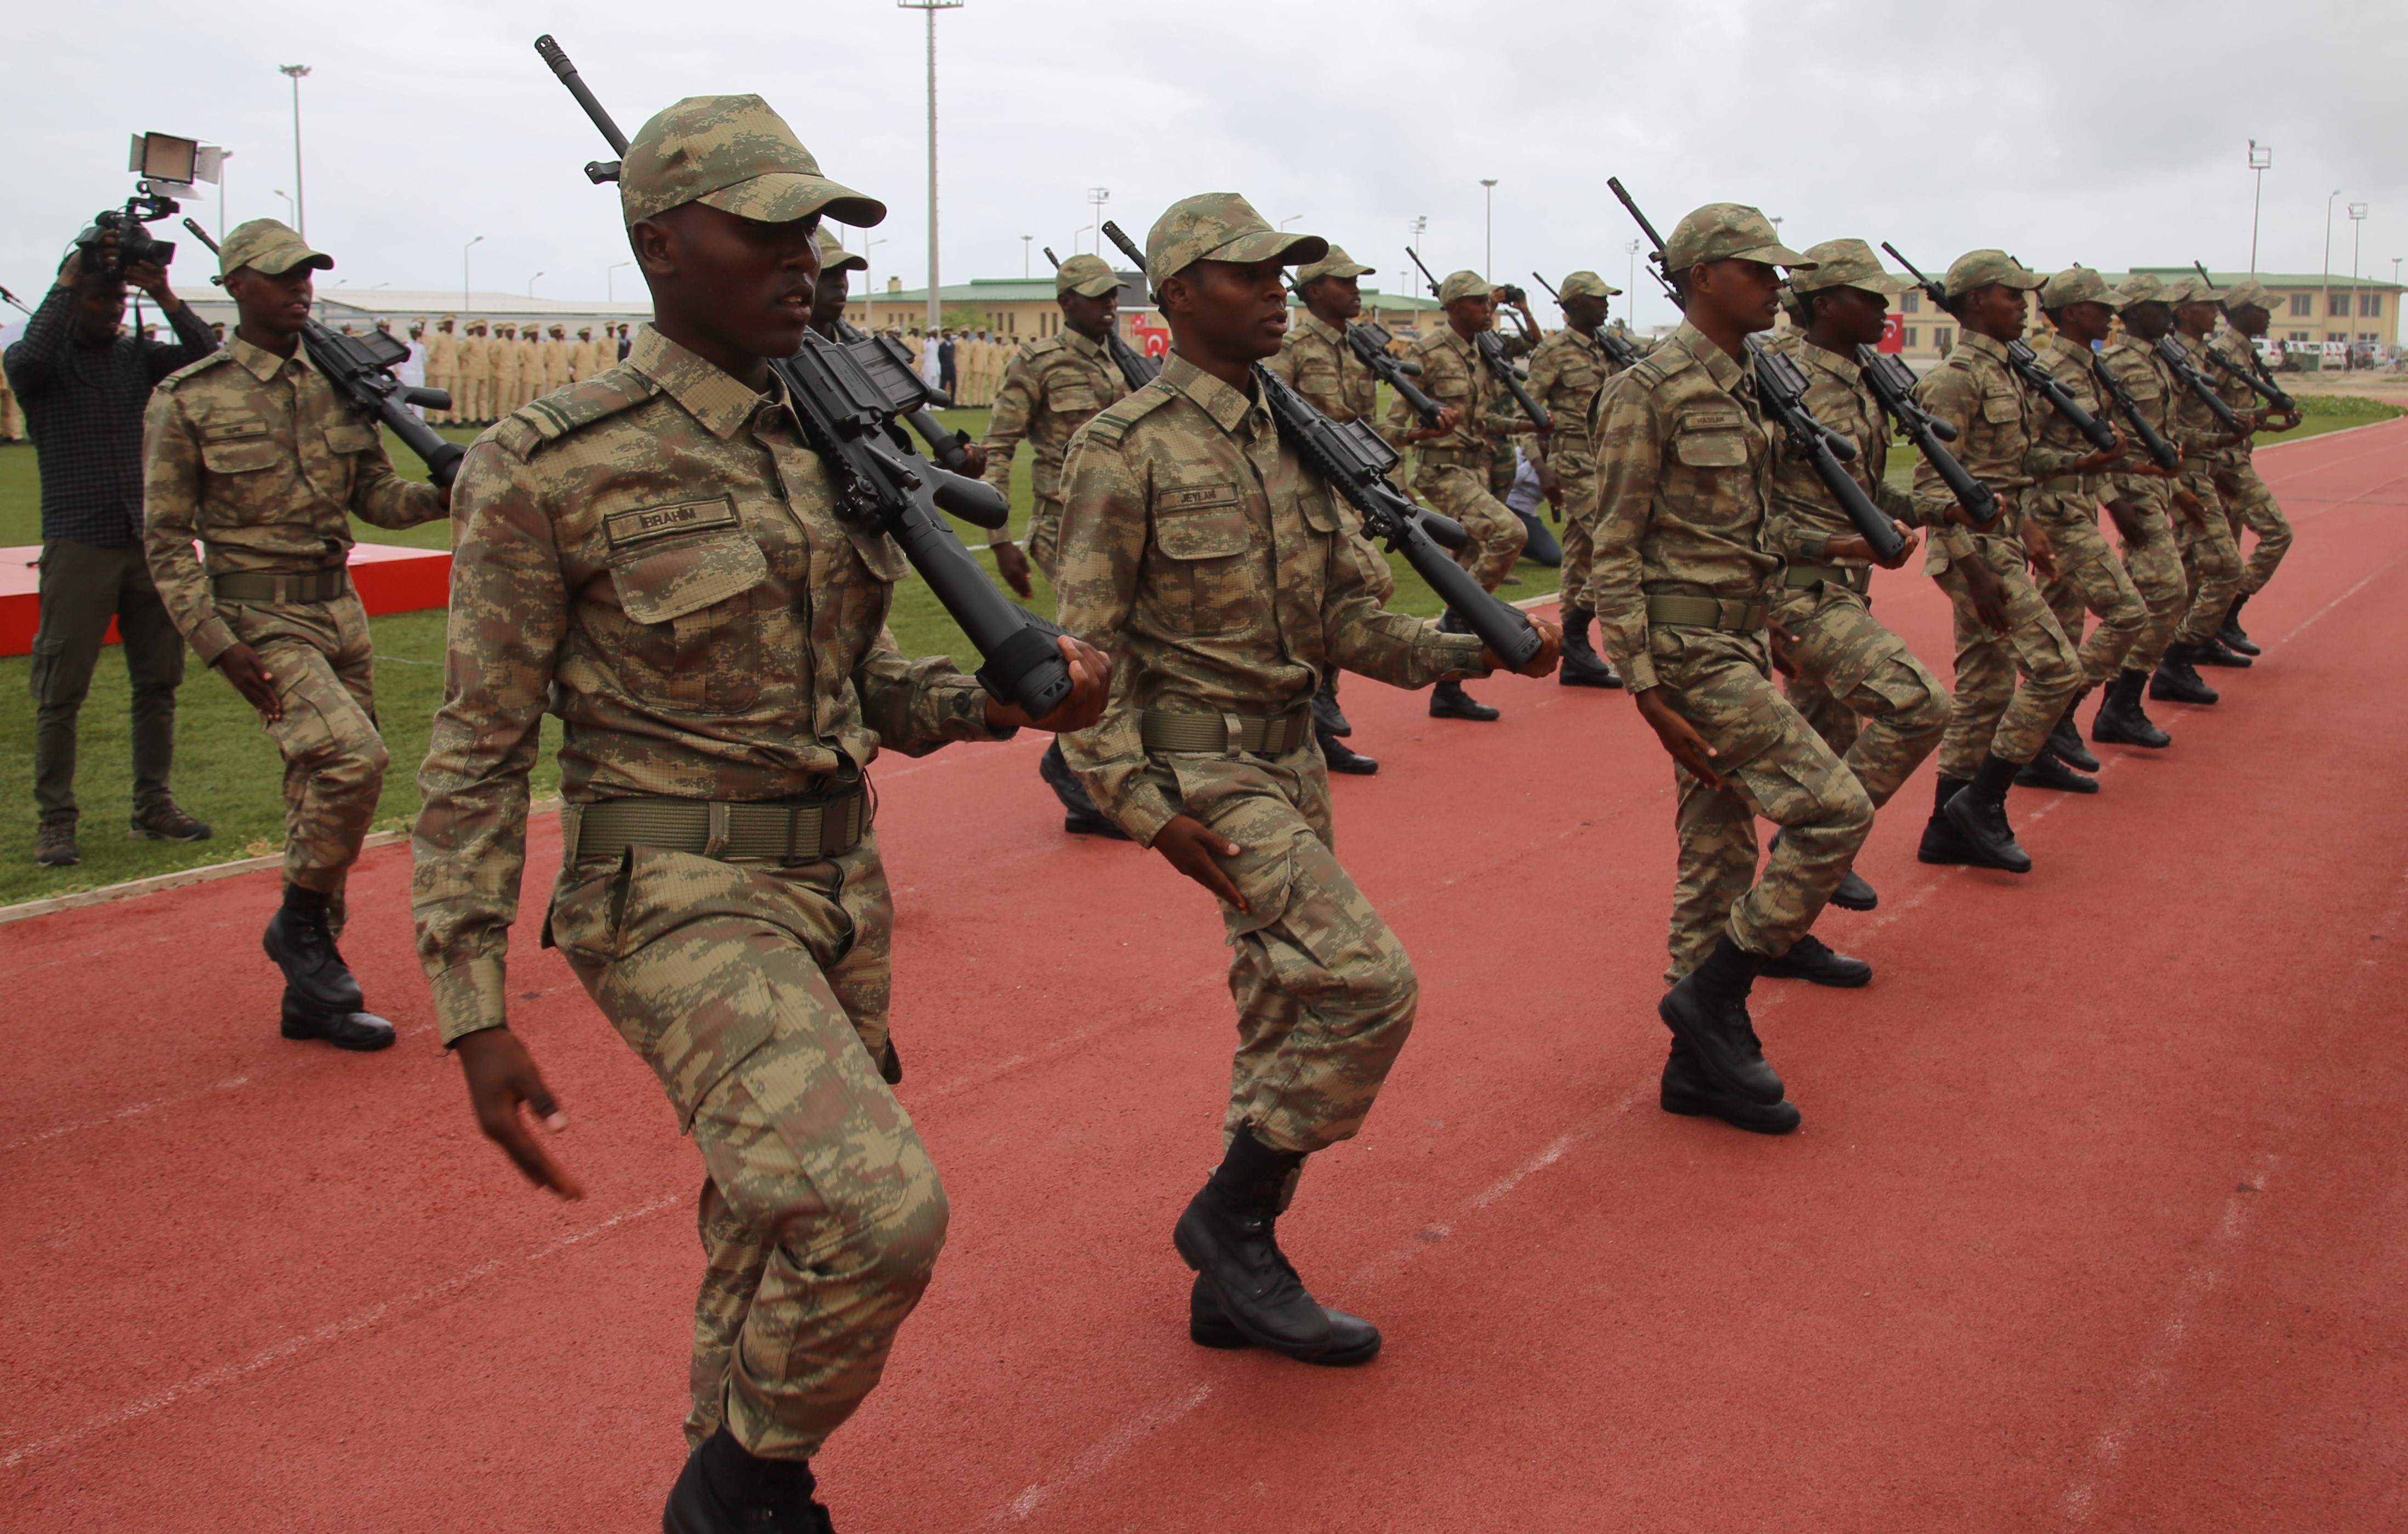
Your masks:
M1387 766L1339 850L1423 1014L1286 1233L1387 1329L1363 1370L1182 1334L1206 898L1064 840L1033 739L891 763L903 1098L956 1214L821 1459L838 1527L2408 1527L2408 421L2264 462L2266 660L2095 800L2018 792L2028 879L1919 867L1907 785L1881 910L1823 927L1873 987L1758 990L1792 1139L1654 1108L1671 775L1630 706L1348 684ZM1934 588L1878 595L1946 662ZM590 1199L527 1192L433 1048L407 874L354 884L405 1036L364 1060L275 1038L272 877L0 932L0 1524L657 1527L698 1163L523 922Z

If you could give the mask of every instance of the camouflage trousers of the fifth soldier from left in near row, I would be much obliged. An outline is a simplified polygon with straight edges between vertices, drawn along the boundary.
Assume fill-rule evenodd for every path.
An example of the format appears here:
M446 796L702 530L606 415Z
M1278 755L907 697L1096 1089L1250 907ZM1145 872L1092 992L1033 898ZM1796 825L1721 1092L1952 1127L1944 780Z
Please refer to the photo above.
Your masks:
M1965 571L1948 564L1936 576L1948 604L1955 607L1955 703L1948 710L1948 734L1941 737L1941 778L1970 783L1982 756L1996 751L2023 766L2040 756L2049 730L2083 686L2083 660L2066 631L2056 626L2049 604L2020 559L1989 554L1994 539L1975 539L2006 585L2006 633L1991 633L1972 612ZM2015 677L2023 686L2015 686Z

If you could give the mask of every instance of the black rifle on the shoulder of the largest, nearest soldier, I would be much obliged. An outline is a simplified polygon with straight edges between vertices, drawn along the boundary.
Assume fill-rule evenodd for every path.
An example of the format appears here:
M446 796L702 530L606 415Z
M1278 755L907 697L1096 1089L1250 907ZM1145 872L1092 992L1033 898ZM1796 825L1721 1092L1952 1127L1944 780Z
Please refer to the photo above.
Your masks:
M561 46L544 34L535 39L535 51L624 157L626 135L578 79ZM616 181L619 164L588 164L585 176L595 185ZM838 515L903 547L903 556L985 657L978 682L987 694L1019 703L1028 718L1060 708L1072 694L1069 665L1055 645L1062 629L1007 602L937 515L944 508L978 527L1002 527L1011 515L1009 501L992 484L920 458L896 426L896 419L929 402L927 385L910 371L910 356L893 337L831 342L804 330L802 352L768 366L785 383L804 438L828 474Z

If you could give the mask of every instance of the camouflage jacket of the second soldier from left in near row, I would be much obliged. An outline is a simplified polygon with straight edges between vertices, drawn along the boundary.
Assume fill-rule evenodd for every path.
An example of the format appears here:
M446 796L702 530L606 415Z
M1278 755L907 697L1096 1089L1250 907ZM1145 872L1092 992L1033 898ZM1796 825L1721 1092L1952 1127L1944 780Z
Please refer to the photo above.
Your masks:
M1103 718L1062 737L1096 804L1151 845L1180 814L1144 710L1283 715L1336 667L1394 686L1481 674L1481 641L1382 612L1339 498L1271 414L1173 354L1072 441L1062 612L1112 653Z

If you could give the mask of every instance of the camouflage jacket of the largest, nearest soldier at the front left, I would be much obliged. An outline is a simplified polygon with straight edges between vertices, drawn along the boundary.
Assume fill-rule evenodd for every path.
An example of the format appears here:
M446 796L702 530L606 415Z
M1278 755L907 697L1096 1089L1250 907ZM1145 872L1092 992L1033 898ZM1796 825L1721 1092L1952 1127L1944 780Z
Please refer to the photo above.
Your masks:
M414 840L443 1043L503 1021L547 708L571 804L783 800L881 749L999 739L978 682L884 641L903 551L836 518L785 400L650 325L626 361L477 438L455 494L450 669Z

